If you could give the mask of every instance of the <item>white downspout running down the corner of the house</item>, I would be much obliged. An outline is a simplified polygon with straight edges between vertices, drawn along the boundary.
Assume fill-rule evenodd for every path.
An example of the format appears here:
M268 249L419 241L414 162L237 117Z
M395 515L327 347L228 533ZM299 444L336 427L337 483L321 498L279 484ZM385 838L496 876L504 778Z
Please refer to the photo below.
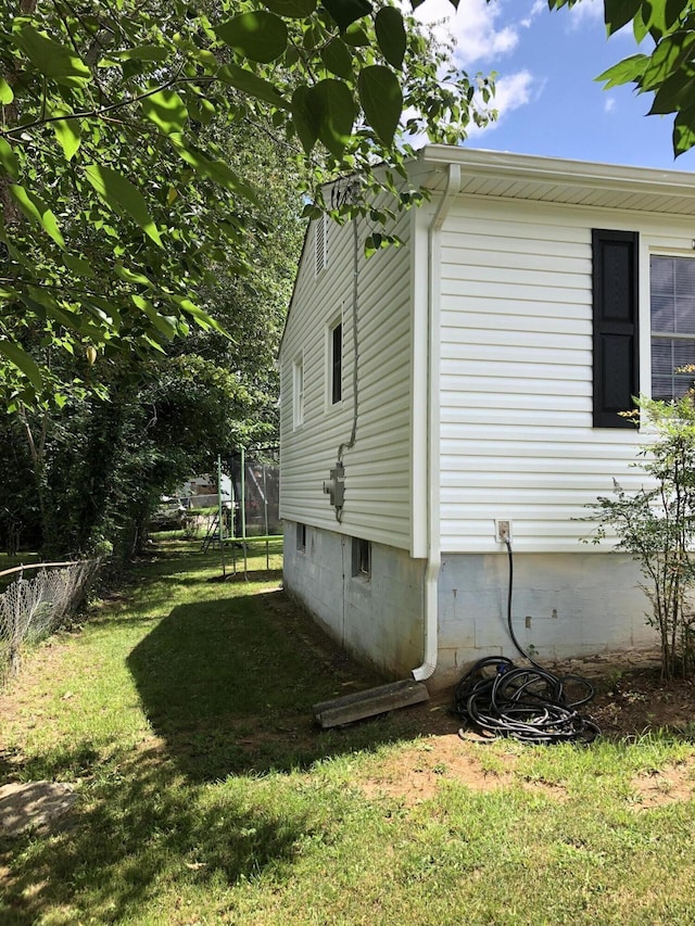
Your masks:
M440 523L440 252L441 230L460 188L460 165L448 164L446 187L427 230L428 245L428 379L427 379L427 566L425 569L425 656L413 670L417 682L437 669L439 649L439 571L442 565Z

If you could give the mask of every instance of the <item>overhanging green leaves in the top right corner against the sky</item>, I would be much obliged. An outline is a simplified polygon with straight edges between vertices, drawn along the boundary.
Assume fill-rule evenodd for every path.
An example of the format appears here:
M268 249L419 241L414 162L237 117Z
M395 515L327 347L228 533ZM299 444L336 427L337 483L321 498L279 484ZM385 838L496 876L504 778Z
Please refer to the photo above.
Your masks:
M581 0L548 0L551 10ZM646 52L630 55L604 72L606 88L632 84L653 93L648 115L673 115L673 154L695 145L695 0L605 0L608 35L632 23Z

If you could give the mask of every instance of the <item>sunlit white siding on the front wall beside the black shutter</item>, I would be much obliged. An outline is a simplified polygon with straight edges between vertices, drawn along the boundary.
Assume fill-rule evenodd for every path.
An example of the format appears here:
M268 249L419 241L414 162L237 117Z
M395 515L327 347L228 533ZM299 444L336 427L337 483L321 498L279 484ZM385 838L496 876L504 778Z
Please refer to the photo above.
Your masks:
M649 386L648 255L692 254L681 219L543 203L459 201L442 232L444 551L589 551L585 505L630 466L632 429L592 427L591 229L641 232L641 382ZM684 249L688 249L687 252ZM605 546L603 547L606 548Z

